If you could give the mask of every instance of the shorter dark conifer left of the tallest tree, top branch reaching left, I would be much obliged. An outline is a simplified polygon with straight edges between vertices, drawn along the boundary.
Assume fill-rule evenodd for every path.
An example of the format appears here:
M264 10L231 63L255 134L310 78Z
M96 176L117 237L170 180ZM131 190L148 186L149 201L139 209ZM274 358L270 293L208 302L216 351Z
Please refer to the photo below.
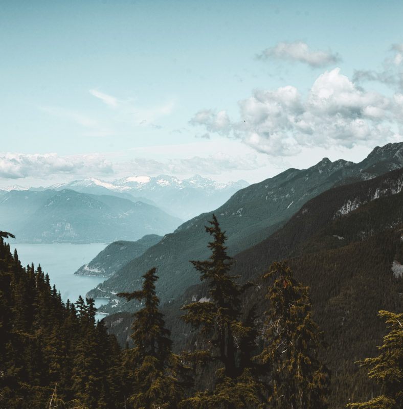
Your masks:
M118 294L127 301L136 299L143 305L134 314L131 327L135 346L125 354L125 366L131 367L128 401L135 409L176 409L184 393L179 379L181 364L171 352L170 331L165 328L164 315L159 311L155 271L151 268L143 276L141 290Z

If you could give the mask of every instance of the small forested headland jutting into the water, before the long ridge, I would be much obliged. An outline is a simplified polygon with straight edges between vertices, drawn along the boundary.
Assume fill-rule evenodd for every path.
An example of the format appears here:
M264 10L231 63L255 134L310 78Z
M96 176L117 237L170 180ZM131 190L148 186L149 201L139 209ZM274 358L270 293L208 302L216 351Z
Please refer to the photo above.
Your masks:
M141 256L148 248L161 241L162 237L149 234L137 241L114 241L107 245L88 264L74 274L81 276L111 277L129 261Z

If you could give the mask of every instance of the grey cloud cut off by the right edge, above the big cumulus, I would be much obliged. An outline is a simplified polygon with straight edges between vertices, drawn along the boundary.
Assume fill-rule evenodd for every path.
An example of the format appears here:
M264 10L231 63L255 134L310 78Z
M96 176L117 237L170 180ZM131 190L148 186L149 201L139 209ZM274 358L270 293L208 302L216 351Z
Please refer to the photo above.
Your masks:
M355 70L353 81L377 81L403 91L403 43L393 44L390 48L392 56L384 60L379 70Z

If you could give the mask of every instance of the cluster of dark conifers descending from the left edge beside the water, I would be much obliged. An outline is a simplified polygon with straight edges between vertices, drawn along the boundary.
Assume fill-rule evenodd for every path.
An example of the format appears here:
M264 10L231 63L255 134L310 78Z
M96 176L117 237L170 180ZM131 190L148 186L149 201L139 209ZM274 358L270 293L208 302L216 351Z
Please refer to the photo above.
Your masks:
M102 390L118 407L120 349L95 311L92 299L64 304L41 267L23 268L0 238L0 407L43 408L55 384L57 407L98 409Z

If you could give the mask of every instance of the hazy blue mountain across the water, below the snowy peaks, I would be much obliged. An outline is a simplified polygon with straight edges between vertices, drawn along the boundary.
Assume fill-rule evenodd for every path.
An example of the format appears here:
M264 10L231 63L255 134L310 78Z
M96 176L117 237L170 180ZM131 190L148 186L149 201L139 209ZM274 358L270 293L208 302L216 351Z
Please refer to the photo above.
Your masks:
M53 192L34 213L10 226L10 230L21 242L110 242L165 234L180 222L143 202L65 189Z

